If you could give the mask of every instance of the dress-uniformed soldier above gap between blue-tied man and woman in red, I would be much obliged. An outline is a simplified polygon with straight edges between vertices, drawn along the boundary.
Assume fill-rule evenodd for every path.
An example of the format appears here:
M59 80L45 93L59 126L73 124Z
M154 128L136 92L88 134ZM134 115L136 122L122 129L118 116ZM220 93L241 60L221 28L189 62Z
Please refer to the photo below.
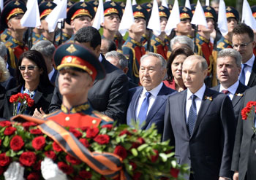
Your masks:
M168 55L167 52L169 50L170 42L167 40L167 36L165 34L165 26L167 24L167 20L170 16L170 11L167 7L160 6L159 10L159 17L160 17L160 26L161 26L161 34L156 36L155 34L151 37L150 43L150 52L158 53L162 55L165 60L167 60ZM144 44L146 48L148 46L148 42Z

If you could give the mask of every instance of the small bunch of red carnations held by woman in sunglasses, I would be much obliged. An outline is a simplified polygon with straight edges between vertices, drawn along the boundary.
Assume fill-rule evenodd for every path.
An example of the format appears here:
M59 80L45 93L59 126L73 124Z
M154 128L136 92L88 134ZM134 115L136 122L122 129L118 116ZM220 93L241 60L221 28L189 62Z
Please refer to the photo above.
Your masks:
M23 114L23 111L29 106L34 105L34 100L26 93L18 93L10 97L10 103L13 103L13 116ZM18 104L20 103L19 109Z

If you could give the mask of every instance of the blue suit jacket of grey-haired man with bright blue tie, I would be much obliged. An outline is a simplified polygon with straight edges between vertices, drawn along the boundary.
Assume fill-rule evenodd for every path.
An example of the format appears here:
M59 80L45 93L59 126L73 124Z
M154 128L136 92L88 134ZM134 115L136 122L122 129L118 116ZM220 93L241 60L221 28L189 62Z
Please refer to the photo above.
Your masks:
M135 87L129 90L129 106L127 110L127 124L131 125L132 120L136 120L136 108L137 103L140 98L140 94L143 91L143 87ZM146 124L141 128L142 130L146 130L151 127L154 123L157 126L158 133L162 134L164 129L164 117L165 117L165 104L167 97L176 92L175 90L166 87L164 84L162 88L159 90L157 94L157 98L155 99L150 111L148 111L148 115L146 117Z

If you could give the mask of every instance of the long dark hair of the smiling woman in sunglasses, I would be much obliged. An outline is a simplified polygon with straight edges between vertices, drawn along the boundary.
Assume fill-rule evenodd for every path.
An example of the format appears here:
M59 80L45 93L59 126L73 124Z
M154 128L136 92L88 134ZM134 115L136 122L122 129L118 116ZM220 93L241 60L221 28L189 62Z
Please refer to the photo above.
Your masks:
M18 69L18 67L21 65L23 58L27 58L33 61L34 63L37 64L38 69L42 69L42 74L40 74L40 79L39 79L39 85L41 87L47 87L48 85L52 85L48 77L48 71L46 69L45 59L42 57L42 54L37 50L28 50L26 52L23 52L22 55L20 55L17 69L16 69L16 77L18 79L18 85L25 84L25 80L21 76L20 70Z

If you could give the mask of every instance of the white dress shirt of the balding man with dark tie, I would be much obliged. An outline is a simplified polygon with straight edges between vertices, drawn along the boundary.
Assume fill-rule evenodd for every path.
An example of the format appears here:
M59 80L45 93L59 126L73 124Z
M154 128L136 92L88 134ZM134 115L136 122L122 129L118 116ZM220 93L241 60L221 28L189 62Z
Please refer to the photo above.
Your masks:
M199 90L197 90L197 92L194 94L197 96L197 98L195 98L195 105L197 106L197 114L200 109L200 106L201 106L201 103L203 100L203 94L205 93L205 91L206 91L206 85L203 84L203 86ZM187 88L186 122L187 122L187 118L189 117L190 106L192 105L192 98L191 98L192 95L193 95L193 93L191 93L189 88Z

